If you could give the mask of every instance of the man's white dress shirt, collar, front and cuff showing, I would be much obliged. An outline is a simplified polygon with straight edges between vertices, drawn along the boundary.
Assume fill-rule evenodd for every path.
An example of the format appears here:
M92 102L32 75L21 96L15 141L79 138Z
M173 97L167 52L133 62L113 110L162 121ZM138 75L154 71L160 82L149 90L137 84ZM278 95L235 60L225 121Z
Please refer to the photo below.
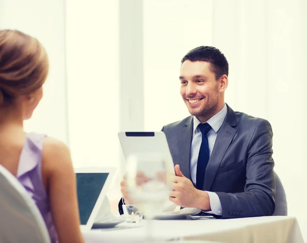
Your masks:
M211 117L208 121L206 121L211 129L208 131L207 138L209 144L209 158L211 156L211 152L214 147L214 143L217 136L217 131L222 126L225 117L227 115L227 106L224 104L224 107L220 112ZM190 155L190 173L191 179L196 186L196 170L197 170L197 161L202 143L202 132L198 128L200 124L200 120L193 116L193 137L191 144L191 155ZM215 215L222 215L222 206L220 198L218 198L217 194L214 192L207 191L210 200L211 211L206 211L207 213L213 213Z

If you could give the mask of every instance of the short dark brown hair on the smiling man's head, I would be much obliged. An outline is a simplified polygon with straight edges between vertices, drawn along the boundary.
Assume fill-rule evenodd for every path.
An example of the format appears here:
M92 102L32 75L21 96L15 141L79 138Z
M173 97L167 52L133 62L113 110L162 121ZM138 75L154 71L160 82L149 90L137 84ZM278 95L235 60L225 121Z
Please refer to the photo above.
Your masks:
M181 64L186 60L210 62L215 79L221 78L224 74L228 76L228 61L224 54L215 47L196 47L182 58Z

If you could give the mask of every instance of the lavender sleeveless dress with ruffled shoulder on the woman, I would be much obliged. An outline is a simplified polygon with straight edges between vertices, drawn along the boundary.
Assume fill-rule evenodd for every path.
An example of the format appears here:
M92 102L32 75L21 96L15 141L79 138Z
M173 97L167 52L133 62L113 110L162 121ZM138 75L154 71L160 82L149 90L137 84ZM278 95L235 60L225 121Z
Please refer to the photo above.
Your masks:
M50 211L49 197L42 182L41 156L45 135L30 133L19 158L17 180L25 187L37 205L52 243L58 242L58 236Z

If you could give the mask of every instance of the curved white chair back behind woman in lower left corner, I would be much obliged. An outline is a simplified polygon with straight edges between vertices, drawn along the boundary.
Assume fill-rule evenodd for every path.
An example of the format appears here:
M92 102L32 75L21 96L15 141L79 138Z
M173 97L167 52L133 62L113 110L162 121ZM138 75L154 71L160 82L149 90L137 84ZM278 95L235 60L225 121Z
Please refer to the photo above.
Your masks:
M50 243L45 222L26 189L0 165L0 243Z

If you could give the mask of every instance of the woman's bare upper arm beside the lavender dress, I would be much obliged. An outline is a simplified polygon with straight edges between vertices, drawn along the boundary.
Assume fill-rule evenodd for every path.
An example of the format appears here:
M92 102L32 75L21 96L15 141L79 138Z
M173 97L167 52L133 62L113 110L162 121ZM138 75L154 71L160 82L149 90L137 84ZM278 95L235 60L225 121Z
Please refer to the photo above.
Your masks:
M50 198L59 242L83 243L76 177L67 145L47 137L42 152L42 177Z

